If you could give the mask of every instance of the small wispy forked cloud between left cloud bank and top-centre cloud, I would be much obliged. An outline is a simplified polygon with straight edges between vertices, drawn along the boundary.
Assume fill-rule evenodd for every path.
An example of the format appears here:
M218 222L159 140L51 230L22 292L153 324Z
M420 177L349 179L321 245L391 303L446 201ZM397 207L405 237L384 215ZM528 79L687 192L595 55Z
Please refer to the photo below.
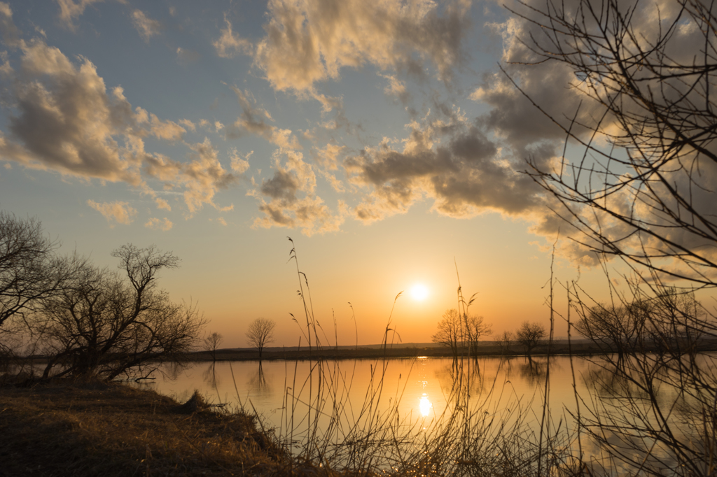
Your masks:
M234 121L234 124L227 127L227 139L241 138L245 134L255 134L270 143L274 143L284 149L300 149L298 139L288 129L280 129L275 125L270 125L266 120L272 120L269 112L261 107L255 106L255 99L251 92L247 90L239 90L232 87L234 93L239 100L239 106L242 108L242 114ZM222 125L224 127L224 125ZM221 129L217 127L217 130Z

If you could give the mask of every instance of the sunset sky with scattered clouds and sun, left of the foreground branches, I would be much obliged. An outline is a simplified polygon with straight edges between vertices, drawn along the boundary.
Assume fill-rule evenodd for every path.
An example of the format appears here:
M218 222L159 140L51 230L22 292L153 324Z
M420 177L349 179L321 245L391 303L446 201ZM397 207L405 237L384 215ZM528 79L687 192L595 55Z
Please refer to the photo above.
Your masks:
M160 286L224 346L256 317L298 343L293 246L331 344L428 342L459 283L496 334L548 324L561 222L521 171L563 137L499 64L549 112L580 98L515 64L502 2L22 0L0 27L0 209L98 266L172 251ZM564 236L556 277L601 286Z

